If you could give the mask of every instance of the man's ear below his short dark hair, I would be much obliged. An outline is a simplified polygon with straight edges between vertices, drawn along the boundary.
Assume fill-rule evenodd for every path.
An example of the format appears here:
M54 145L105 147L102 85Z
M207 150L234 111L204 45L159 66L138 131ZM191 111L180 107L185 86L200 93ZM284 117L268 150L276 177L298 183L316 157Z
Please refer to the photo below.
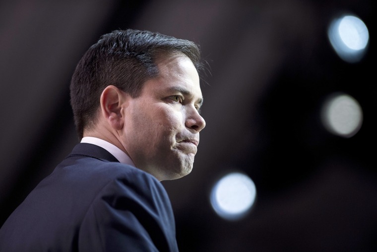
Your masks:
M120 130L124 125L124 116L122 115L122 102L124 93L114 85L108 85L101 94L101 112L109 125Z

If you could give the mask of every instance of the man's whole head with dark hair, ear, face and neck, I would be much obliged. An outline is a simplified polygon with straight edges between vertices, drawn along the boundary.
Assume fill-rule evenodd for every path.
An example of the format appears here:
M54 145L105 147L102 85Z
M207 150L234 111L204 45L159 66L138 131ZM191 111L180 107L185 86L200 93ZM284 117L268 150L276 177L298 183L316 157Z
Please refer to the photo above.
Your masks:
M70 85L79 136L115 144L160 180L188 174L205 126L198 113L202 67L187 40L137 30L102 36Z

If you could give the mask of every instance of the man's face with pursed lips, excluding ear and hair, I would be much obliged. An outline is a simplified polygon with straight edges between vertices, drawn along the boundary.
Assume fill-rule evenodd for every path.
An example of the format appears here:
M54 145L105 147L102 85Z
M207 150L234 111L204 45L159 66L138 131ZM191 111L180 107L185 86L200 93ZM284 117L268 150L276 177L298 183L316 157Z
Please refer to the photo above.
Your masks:
M199 76L188 57L171 56L157 64L160 75L144 84L125 107L122 144L137 168L159 180L187 175L194 162L202 94Z

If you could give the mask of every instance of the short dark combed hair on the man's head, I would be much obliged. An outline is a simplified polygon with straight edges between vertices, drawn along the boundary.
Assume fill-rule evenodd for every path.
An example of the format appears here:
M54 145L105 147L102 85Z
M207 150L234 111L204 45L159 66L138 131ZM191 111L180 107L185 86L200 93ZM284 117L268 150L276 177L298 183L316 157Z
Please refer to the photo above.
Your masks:
M79 137L82 138L84 129L95 125L100 96L106 86L115 85L137 97L143 84L158 76L156 60L177 53L185 54L199 73L204 68L199 47L188 40L132 29L101 36L78 62L70 83L70 102Z

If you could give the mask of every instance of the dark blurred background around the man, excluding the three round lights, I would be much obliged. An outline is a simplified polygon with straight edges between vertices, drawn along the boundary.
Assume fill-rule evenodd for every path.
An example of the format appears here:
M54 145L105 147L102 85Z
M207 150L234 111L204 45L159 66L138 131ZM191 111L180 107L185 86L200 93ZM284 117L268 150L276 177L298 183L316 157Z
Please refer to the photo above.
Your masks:
M359 63L327 39L343 11L369 29ZM194 169L163 182L182 252L376 251L375 14L373 0L1 1L0 224L78 142L68 85L82 54L134 28L195 41L210 65ZM364 112L348 139L319 120L334 91ZM253 179L257 200L228 222L208 195L235 170Z

